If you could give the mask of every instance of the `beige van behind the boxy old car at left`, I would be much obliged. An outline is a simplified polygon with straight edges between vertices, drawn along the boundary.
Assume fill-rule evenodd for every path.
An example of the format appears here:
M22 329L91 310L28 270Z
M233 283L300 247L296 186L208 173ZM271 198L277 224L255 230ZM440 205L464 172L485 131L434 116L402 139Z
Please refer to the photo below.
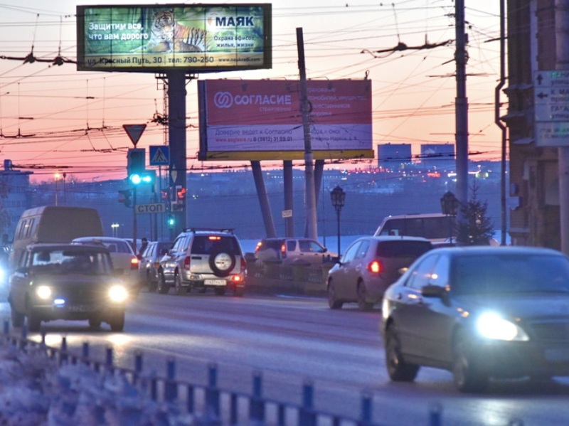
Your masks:
M103 235L102 221L95 208L41 206L22 213L10 254L9 265L17 265L31 243L70 243L73 238Z

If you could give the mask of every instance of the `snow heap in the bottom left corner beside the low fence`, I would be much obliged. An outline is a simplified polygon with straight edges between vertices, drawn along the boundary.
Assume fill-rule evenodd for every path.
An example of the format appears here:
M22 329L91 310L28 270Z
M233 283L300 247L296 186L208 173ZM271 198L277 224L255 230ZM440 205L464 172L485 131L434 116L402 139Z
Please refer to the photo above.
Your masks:
M58 365L41 346L26 351L0 342L0 425L214 425L157 403L122 374L97 373L83 363Z

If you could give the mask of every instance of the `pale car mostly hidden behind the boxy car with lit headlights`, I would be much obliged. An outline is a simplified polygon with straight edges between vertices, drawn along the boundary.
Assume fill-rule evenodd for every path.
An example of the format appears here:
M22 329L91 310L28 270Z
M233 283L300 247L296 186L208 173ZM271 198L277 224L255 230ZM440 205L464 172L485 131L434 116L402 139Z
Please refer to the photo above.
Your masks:
M127 240L115 237L92 236L75 238L72 240L72 243L97 244L107 247L115 273L129 284L134 295L138 294L141 284L138 272L139 260Z

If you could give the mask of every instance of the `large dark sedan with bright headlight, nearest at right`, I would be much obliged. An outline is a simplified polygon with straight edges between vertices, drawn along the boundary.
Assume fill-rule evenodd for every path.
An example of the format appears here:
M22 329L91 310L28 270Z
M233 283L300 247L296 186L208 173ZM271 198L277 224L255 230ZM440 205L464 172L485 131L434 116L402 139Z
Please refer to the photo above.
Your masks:
M569 375L569 257L541 247L437 248L385 292L391 380L452 371L463 392L489 378Z

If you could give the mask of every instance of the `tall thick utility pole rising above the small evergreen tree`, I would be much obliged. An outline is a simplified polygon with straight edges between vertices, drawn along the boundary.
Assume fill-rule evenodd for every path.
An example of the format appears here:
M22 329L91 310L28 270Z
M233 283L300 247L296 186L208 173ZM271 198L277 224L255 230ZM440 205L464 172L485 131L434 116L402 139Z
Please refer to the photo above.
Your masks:
M457 149L457 198L468 202L468 98L467 98L467 35L464 33L464 0L456 0L454 6L457 50L457 97L455 100L456 149ZM459 210L459 220L461 214Z

